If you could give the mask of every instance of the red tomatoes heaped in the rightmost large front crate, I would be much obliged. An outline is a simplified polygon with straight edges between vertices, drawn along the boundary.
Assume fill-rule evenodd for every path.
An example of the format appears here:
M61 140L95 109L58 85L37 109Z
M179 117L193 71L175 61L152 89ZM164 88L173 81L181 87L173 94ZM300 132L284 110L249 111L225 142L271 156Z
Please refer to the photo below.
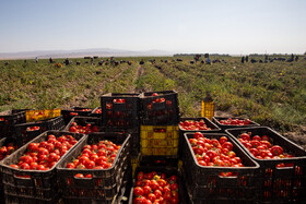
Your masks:
M280 159L292 158L291 154L284 153L279 145L272 145L268 135L254 135L251 133L243 133L238 141L258 159Z

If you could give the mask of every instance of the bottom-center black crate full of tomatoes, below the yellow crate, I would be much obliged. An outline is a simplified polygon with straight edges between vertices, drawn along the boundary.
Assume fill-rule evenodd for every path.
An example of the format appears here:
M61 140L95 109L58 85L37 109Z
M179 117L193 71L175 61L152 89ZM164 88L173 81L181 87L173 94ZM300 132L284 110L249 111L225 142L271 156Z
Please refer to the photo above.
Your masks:
M188 203L177 168L138 167L130 192L132 203Z

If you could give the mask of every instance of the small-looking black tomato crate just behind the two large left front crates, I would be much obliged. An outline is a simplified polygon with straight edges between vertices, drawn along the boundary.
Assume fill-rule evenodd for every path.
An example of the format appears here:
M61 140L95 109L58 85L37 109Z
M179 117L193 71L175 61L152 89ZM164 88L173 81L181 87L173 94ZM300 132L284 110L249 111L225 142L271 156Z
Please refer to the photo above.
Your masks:
M95 117L74 117L64 128L64 131L89 134L92 132L99 132L101 118Z

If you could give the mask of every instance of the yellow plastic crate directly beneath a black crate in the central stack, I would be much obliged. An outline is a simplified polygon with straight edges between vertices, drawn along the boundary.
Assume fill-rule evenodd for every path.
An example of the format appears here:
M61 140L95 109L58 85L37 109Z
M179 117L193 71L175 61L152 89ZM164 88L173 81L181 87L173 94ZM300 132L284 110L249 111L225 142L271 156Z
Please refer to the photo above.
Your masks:
M140 153L142 156L177 157L178 125L141 125Z

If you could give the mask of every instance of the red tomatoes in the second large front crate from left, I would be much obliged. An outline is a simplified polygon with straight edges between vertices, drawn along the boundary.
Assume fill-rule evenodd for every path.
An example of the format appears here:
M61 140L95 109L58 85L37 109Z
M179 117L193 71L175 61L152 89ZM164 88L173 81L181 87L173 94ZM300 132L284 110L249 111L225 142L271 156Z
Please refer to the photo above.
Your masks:
M69 169L108 169L113 166L121 145L116 145L111 141L99 141L97 144L87 144L82 148L78 158L68 163ZM75 175L78 178L91 178L91 175Z

